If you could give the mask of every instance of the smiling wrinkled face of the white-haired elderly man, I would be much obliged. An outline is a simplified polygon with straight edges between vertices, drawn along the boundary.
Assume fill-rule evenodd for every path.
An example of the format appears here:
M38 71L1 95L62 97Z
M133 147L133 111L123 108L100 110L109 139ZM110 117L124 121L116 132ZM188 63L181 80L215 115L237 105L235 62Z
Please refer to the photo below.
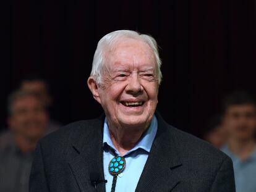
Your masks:
M158 102L158 71L153 51L140 40L125 39L105 52L101 85L93 91L108 123L147 128Z

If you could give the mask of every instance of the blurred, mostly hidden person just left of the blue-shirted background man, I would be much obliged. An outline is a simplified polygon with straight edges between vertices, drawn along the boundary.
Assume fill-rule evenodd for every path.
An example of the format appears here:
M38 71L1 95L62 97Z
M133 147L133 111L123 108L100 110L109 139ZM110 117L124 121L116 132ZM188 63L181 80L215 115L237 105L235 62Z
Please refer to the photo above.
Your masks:
M221 115L215 115L211 118L203 138L218 149L226 144L228 133L223 126Z

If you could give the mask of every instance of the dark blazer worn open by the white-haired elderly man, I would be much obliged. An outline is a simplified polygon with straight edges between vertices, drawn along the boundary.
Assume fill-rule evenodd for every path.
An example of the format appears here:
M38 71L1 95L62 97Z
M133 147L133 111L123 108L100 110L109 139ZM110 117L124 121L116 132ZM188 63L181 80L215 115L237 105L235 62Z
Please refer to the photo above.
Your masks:
M156 117L158 131L136 191L235 191L228 156ZM35 152L30 192L105 191L105 183L95 189L91 181L95 172L104 179L103 122L104 117L71 123L43 138Z

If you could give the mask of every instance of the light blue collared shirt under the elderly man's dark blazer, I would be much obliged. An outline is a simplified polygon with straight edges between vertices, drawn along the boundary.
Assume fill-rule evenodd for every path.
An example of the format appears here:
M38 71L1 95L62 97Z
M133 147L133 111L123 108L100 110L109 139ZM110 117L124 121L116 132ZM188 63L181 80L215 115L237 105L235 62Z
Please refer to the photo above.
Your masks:
M135 191L144 165L148 159L148 154L150 152L153 140L155 139L157 127L158 122L154 115L153 119L151 120L150 127L145 133L143 133L139 143L137 143L134 148L130 149L130 151L124 154L124 158L126 159L126 168L117 176L116 192ZM103 131L103 149L104 174L105 179L108 180L106 183L106 192L110 192L113 176L108 171L109 161L115 157L115 154L117 156L120 154L111 141L106 119Z

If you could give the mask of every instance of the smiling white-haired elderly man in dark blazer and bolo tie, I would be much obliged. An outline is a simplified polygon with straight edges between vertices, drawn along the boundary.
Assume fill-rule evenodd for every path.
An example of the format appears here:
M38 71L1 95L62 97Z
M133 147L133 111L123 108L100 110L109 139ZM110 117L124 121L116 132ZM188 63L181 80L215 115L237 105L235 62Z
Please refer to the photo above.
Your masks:
M234 191L231 159L156 112L156 41L135 31L98 43L88 86L105 111L41 140L30 191Z

